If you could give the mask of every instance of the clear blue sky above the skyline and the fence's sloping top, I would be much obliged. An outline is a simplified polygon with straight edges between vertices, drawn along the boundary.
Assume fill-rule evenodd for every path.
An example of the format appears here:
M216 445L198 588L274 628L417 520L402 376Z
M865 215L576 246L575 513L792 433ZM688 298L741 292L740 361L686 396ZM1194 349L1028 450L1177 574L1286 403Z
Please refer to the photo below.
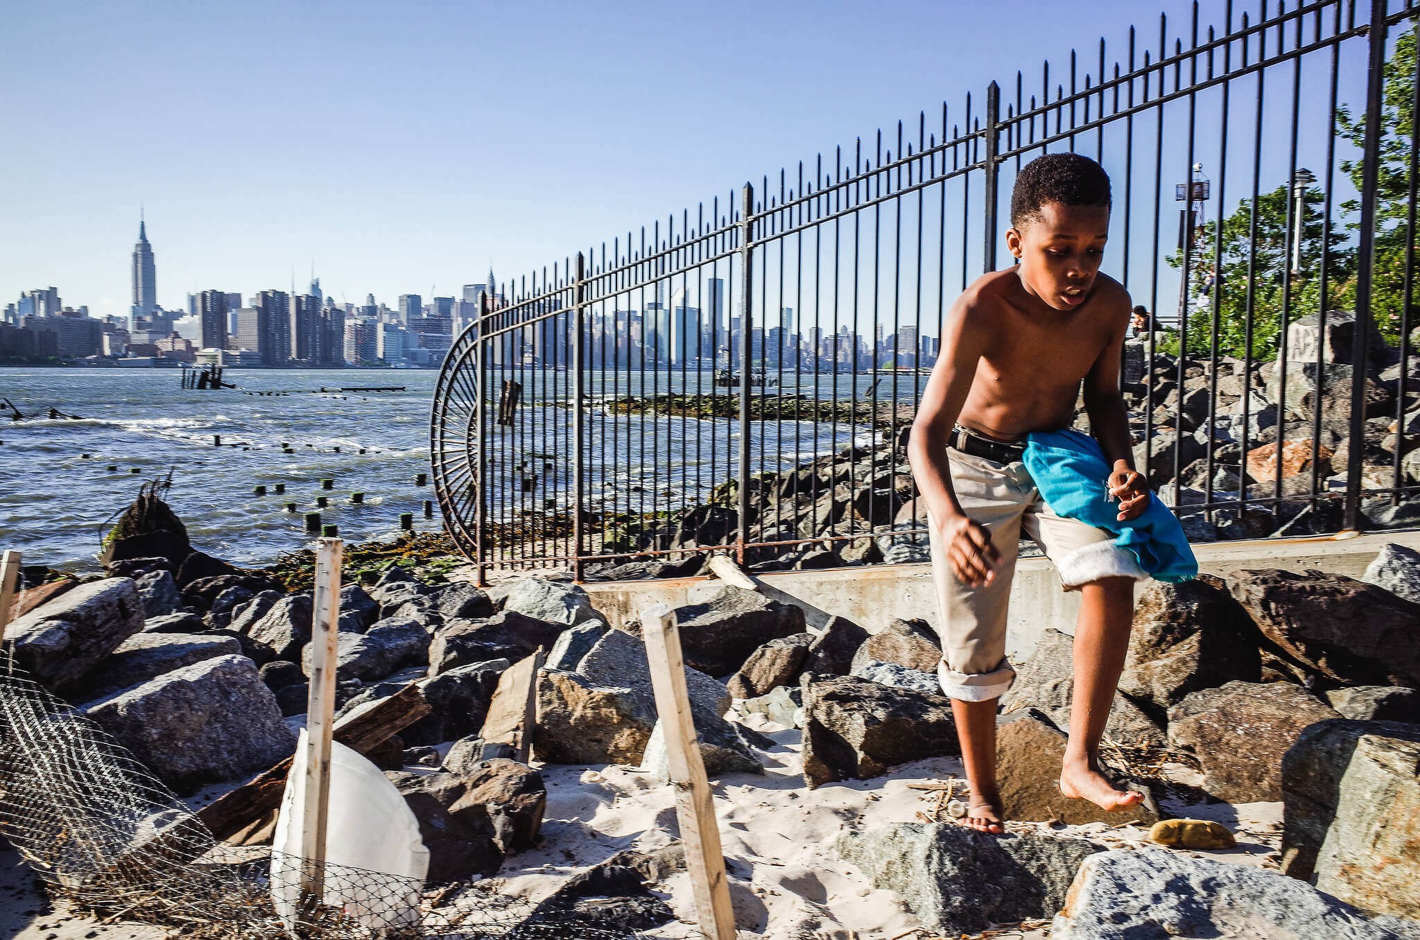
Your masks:
M341 300L456 294L1189 10L10 0L0 302L126 312L139 203L169 308L312 258Z

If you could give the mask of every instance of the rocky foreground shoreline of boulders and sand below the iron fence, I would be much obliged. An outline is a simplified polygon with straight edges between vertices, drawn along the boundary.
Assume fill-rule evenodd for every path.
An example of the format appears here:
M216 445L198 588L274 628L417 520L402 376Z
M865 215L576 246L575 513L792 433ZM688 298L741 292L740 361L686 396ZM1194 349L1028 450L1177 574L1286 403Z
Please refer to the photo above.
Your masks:
M7 635L16 662L179 794L239 784L288 757L308 689L307 568L294 559L280 576L240 571L170 525L125 531L105 576L60 586L27 571L33 609ZM162 545L168 554L153 551ZM337 707L351 714L410 684L429 703L368 757L413 808L430 879L525 882L534 902L586 923L684 936L693 905L669 816L633 825L613 812L622 798L669 799L656 789L669 771L642 640L612 629L565 574L484 591L439 569L435 540L361 551L341 589ZM422 569L417 552L427 555ZM834 618L811 629L798 606L731 585L676 619L701 754L721 788L734 781L719 811L738 818L757 794L781 792L814 821L824 852L815 858L838 866L835 883L900 899L883 920L780 872L770 849L746 849L730 866L746 929L797 937L812 923L842 929L821 936L866 937L907 924L957 936L1055 917L1054 937L1184 927L1244 937L1312 936L1305 924L1321 919L1326 936L1420 937L1420 554L1404 547L1382 551L1362 581L1240 571L1149 586L1106 758L1152 799L1122 815L1065 801L1051 785L1068 733L1071 638L1047 630L1003 700L1001 784L1014 821L1005 838L953 821L951 799L966 794L950 780L956 728L927 623L869 635ZM538 647L548 652L534 763L486 760L477 736L498 679ZM933 761L949 784L914 785L937 797L934 807L868 825L886 781ZM941 777L943 767L953 770ZM550 781L569 780L588 794L616 780L625 795L574 826L548 815L567 797L554 798ZM849 791L865 802L834 815L835 794ZM1279 808L1281 826L1272 842L1252 842L1267 846L1261 869L1233 865L1227 852L1227 862L1211 860L1190 842L1149 848L1154 822L1210 807L1233 814L1227 845L1242 838L1241 808L1262 805ZM621 835L608 843L601 825ZM268 818L240 841L270 836ZM571 878L534 878L524 860L555 853L558 839L578 862ZM1015 890L998 887L1007 878ZM1156 885L1170 900L1142 906L1112 887L1120 879Z

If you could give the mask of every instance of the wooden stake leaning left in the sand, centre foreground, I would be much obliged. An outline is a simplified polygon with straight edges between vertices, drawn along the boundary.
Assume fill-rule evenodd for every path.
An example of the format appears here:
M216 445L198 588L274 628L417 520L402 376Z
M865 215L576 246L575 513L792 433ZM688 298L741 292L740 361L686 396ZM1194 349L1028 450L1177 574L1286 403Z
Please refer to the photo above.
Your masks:
M720 826L714 816L710 781L700 757L696 726L690 718L690 694L686 692L686 663L680 655L680 630L665 603L640 615L642 638L650 662L650 683L656 692L656 711L666 734L670 758L670 782L676 788L676 818L686 845L686 868L696 897L700 933L709 940L736 940L734 909L730 885L724 878L724 853Z

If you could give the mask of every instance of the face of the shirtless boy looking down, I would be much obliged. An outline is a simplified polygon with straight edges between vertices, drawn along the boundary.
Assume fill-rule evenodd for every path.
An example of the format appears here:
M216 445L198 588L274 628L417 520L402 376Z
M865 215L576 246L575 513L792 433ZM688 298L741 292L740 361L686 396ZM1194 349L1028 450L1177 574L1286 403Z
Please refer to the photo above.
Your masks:
M1005 233L1025 290L1055 310L1074 310L1089 297L1108 239L1109 209L1055 202L1042 203L1037 217Z

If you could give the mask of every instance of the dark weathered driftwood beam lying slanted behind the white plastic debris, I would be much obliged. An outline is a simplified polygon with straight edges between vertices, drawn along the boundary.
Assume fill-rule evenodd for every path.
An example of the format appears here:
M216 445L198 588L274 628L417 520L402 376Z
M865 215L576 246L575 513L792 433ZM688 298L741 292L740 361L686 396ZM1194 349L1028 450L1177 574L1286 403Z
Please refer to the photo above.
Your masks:
M337 721L335 740L365 754L429 711L425 693L416 683L410 683L369 709ZM281 805L281 797L285 794L285 775L290 771L291 758L288 757L264 774L199 809L197 818L219 839L236 836Z

